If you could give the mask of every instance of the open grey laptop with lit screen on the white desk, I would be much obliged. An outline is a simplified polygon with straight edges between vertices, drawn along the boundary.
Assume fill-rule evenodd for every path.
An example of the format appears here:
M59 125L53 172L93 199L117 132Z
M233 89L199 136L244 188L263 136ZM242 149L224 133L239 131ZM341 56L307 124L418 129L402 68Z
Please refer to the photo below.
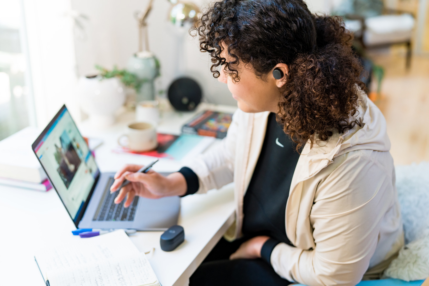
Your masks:
M58 111L32 145L76 228L165 230L177 224L178 196L136 196L128 208L110 193L115 173L100 173L94 156L66 106Z

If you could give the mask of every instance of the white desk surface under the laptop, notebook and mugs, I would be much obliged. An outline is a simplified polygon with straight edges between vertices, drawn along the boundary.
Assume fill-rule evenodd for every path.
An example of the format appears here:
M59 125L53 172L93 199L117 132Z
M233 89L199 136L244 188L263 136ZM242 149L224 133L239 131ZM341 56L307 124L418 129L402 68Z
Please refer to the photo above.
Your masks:
M202 105L199 110L203 108L207 105ZM227 108L223 110L229 111ZM181 124L193 114L164 114L159 131L178 133ZM104 140L96 151L102 172L115 171L125 163L145 164L151 160L150 157L112 153L116 139L132 119L125 114L119 123L106 130L94 130L85 123L79 125L83 135ZM171 122L174 124L169 124ZM181 164L160 160L155 166L156 171L172 172L177 171ZM187 285L190 275L233 223L233 201L232 184L204 195L184 197L179 224L184 227L185 241L172 252L160 249L162 232L138 232L130 236L141 251L155 248L149 261L163 286ZM54 190L38 192L0 186L0 217L1 285L42 286L43 280L33 258L34 250L57 241L81 239L71 234L73 222Z

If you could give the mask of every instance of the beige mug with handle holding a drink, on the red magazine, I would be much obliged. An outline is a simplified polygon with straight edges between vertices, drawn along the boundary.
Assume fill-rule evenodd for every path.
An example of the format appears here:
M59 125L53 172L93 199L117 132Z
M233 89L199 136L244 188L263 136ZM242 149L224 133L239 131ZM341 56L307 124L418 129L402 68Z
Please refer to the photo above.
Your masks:
M128 145L121 143L121 138L128 138ZM127 133L118 138L118 144L133 151L149 151L157 148L157 132L155 126L148 122L134 122L128 124Z

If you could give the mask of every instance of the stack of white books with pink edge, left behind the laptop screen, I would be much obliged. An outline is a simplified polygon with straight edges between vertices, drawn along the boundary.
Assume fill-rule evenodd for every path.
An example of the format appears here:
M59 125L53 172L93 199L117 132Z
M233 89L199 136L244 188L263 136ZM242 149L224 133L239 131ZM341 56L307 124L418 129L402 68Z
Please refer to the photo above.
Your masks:
M31 149L40 131L26 127L0 141L0 185L48 191L48 177Z

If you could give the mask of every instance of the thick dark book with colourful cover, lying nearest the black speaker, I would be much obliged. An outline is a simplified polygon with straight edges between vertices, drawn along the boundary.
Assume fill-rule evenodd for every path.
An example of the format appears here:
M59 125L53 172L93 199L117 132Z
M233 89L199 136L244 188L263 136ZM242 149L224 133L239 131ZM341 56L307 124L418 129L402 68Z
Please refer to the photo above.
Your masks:
M188 121L182 127L182 132L222 139L227 135L232 120L232 113L206 110Z

